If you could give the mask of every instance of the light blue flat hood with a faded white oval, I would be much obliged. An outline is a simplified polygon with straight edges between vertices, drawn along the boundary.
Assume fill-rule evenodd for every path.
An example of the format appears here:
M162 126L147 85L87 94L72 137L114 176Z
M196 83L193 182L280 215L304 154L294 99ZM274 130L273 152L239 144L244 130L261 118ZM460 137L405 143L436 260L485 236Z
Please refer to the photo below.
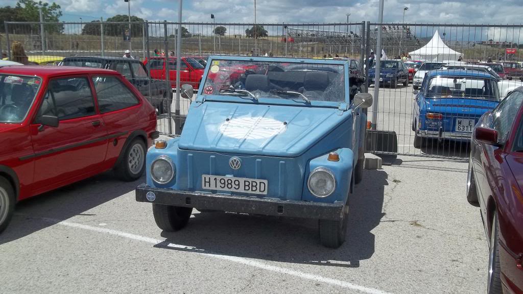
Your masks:
M206 101L191 104L178 146L185 150L295 157L347 115L337 108Z

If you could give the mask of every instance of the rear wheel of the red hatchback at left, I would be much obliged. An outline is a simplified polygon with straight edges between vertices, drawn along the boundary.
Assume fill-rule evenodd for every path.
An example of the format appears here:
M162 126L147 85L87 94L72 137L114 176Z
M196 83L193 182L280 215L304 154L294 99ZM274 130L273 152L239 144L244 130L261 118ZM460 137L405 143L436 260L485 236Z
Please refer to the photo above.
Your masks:
M134 138L123 152L116 168L118 177L126 182L139 179L145 171L145 143L141 138Z

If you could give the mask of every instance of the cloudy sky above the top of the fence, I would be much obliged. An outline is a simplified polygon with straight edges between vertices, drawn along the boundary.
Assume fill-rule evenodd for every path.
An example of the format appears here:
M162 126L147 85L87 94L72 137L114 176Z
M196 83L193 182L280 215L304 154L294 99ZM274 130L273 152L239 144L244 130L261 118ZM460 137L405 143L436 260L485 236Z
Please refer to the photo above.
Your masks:
M47 0L44 0L47 1ZM177 19L178 0L130 0L131 14L147 20ZM52 2L52 1L47 1ZM64 21L83 21L127 14L123 0L54 0L62 6ZM16 0L0 0L0 6ZM341 22L377 21L378 0L257 0L258 22ZM409 7L405 21L466 24L520 24L523 0L385 0L384 21L402 21L403 8ZM253 22L253 0L185 0L183 20L217 22Z

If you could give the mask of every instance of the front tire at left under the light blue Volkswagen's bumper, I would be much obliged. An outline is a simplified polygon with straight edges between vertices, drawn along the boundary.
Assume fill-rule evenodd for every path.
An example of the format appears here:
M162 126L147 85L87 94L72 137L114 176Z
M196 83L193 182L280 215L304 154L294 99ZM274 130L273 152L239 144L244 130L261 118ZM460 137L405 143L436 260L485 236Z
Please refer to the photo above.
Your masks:
M153 203L154 221L167 232L183 229L191 217L192 207L179 207Z

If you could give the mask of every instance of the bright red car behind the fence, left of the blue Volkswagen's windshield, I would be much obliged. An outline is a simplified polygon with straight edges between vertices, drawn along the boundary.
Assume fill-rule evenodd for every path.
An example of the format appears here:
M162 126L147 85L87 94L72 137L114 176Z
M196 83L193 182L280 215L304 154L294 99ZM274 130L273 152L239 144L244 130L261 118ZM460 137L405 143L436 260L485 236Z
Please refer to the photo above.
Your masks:
M171 87L176 87L176 57L168 57L169 60L169 80ZM203 70L205 67L198 61L190 57L181 58L180 63L180 83L181 85L189 84L193 88L198 89L200 87L201 78L203 76ZM164 80L167 78L165 71L165 58L163 57L152 57L149 60L145 59L143 62L145 65L149 63L151 71L151 78L155 80Z

